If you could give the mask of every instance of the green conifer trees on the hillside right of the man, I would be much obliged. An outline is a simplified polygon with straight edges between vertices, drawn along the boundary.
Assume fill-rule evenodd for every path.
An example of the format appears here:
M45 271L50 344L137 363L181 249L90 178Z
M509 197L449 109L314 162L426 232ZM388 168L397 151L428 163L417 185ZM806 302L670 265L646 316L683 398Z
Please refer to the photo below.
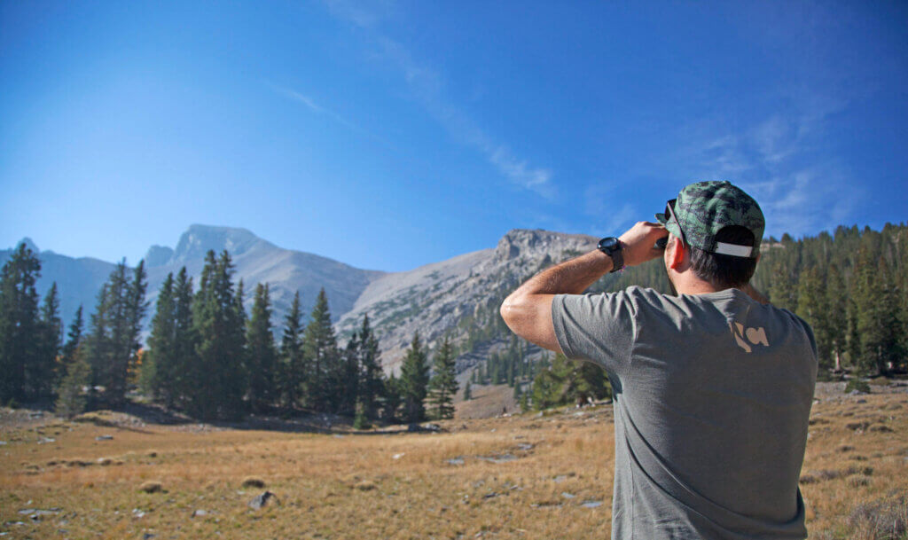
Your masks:
M755 287L813 327L821 376L908 369L908 227L840 226L764 245Z

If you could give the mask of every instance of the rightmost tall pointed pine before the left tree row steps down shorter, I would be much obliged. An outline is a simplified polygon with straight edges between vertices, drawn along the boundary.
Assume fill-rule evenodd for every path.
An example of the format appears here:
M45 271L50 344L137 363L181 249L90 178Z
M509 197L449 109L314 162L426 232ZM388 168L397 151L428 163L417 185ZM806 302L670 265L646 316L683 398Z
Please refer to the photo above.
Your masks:
M311 365L307 378L307 405L316 410L329 410L335 398L336 388L331 388L331 374L337 367L337 338L331 326L331 312L328 309L328 295L319 291L312 308L309 324L302 339L303 354Z

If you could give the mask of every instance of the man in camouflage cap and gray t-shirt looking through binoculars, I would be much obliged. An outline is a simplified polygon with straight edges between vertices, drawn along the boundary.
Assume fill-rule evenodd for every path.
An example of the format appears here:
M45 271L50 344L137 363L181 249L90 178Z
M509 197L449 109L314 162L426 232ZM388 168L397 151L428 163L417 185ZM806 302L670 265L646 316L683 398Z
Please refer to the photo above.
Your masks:
M804 320L749 285L763 212L729 182L698 182L656 219L540 272L501 316L519 336L607 370L612 538L804 538L797 483L816 346ZM677 296L581 294L660 255Z

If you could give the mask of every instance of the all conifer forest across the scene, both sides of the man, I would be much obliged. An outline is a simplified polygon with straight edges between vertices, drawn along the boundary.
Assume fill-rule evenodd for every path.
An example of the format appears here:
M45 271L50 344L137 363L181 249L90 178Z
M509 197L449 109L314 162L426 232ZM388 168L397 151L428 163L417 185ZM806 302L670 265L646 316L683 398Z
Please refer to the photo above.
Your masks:
M508 384L524 410L609 395L600 368L538 349L531 358L528 343L509 335L491 312L485 324L478 324L481 317L470 320L475 331L459 343L445 337L430 350L417 332L399 374L386 375L368 315L339 342L322 290L308 316L297 293L286 317L272 320L268 284L247 291L242 280L234 282L227 251L208 252L197 282L185 268L168 275L154 305L145 299L143 262L134 269L122 262L94 307L80 307L65 329L57 285L38 298L40 272L35 253L20 244L0 275L5 405L53 403L59 414L73 417L142 395L205 420L311 411L354 417L357 427L368 427L453 417L455 396L469 400L478 385ZM508 285L519 278L510 277ZM840 226L800 240L765 239L752 284L813 327L819 378L908 369L905 225L886 224L882 231ZM661 260L609 274L591 290L629 285L668 292ZM253 299L249 313L243 308L247 294ZM151 332L143 343L146 317ZM456 358L489 339L506 346L469 367L461 388Z

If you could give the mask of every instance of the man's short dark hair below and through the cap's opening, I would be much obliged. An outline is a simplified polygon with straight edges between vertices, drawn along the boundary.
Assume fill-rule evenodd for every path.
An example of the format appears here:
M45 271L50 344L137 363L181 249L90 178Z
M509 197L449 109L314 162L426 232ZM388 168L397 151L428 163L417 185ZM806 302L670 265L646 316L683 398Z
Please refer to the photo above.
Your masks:
M716 234L716 241L740 246L753 246L754 233L740 225L724 227ZM706 280L723 289L746 285L756 270L756 259L709 253L693 246L690 249L690 265L697 278Z

